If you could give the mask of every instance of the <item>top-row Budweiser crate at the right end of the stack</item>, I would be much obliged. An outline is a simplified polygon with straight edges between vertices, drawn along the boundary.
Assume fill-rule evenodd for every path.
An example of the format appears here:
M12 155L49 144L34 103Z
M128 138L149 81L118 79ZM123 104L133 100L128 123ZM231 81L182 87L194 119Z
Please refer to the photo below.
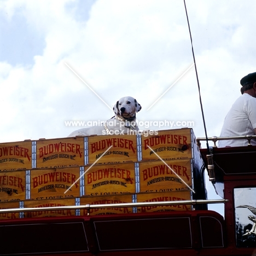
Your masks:
M192 132L192 129L177 129L158 131L158 135L142 135L142 161L159 160L155 153L163 160L192 158Z

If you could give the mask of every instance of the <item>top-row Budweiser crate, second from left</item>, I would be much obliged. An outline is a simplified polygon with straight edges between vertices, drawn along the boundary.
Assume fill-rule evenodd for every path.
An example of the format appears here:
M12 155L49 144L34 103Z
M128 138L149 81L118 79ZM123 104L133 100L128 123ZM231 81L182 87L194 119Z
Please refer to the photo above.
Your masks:
M83 166L84 138L41 139L36 141L36 168Z

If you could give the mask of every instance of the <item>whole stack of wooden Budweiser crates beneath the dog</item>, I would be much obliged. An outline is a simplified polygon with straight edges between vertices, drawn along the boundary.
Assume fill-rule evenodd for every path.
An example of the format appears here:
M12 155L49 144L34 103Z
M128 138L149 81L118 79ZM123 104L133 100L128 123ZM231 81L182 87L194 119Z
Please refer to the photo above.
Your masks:
M0 208L206 199L192 129L0 143ZM191 205L0 214L0 218L190 211Z

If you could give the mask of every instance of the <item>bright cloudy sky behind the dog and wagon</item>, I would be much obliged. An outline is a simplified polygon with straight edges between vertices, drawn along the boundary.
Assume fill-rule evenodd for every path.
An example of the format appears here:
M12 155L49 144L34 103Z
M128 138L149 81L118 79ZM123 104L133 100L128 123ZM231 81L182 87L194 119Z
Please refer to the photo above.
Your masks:
M207 135L219 136L255 71L256 2L186 4ZM124 96L137 120L193 121L205 137L183 0L1 0L0 36L0 143L66 137L80 127L65 121L107 120Z

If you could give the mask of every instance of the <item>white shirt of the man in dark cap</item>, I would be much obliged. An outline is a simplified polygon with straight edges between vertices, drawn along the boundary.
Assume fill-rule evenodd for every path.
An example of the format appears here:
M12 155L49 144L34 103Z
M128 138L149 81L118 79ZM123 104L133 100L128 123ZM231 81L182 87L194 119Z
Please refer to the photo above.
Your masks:
M256 128L256 98L244 93L237 98L226 115L220 137L255 135L254 128ZM251 144L256 145L256 140L252 139ZM230 139L218 142L219 148L247 145L247 139Z

